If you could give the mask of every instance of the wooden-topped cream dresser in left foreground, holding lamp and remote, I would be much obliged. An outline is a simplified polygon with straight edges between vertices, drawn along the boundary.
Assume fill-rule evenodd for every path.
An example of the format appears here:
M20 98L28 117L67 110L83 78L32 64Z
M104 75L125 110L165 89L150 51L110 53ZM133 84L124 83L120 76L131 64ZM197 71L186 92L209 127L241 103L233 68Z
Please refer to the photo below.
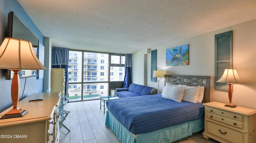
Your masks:
M43 100L28 101L38 98ZM34 93L21 100L18 107L28 113L21 118L0 119L0 143L58 143L59 103L60 92Z

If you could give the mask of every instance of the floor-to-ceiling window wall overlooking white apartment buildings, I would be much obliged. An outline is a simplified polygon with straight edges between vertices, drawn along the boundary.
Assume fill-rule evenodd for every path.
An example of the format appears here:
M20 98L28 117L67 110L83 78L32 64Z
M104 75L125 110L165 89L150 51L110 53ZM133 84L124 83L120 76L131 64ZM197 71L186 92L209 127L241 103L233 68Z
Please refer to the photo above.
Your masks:
M109 58L119 67L110 67ZM124 59L124 56L110 57L107 53L69 51L69 100L91 100L109 95L109 81L124 80L124 65L120 65Z

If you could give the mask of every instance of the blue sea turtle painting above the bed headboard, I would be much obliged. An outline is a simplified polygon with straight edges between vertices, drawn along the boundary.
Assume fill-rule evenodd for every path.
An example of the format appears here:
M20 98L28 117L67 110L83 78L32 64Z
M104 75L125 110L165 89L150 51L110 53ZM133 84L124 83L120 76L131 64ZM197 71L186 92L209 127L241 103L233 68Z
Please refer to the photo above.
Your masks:
M188 44L166 49L166 66L189 65L188 51Z

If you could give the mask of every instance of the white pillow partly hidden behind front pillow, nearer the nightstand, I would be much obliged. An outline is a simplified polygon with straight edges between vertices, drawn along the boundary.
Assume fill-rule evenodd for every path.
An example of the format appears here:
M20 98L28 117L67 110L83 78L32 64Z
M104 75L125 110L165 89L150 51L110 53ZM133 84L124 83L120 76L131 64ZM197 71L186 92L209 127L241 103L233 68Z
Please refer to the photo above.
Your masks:
M179 85L185 87L184 90L184 96L183 96L183 101L186 102L192 102L196 103L199 93L200 93L200 86L187 86L187 85Z

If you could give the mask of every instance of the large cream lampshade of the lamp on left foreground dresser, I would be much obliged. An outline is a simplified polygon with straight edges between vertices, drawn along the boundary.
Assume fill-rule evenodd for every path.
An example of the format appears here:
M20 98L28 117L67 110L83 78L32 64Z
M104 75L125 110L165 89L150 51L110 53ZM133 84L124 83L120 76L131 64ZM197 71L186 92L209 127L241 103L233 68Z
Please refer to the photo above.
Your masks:
M5 38L0 47L0 69L46 69L34 53L30 41Z

